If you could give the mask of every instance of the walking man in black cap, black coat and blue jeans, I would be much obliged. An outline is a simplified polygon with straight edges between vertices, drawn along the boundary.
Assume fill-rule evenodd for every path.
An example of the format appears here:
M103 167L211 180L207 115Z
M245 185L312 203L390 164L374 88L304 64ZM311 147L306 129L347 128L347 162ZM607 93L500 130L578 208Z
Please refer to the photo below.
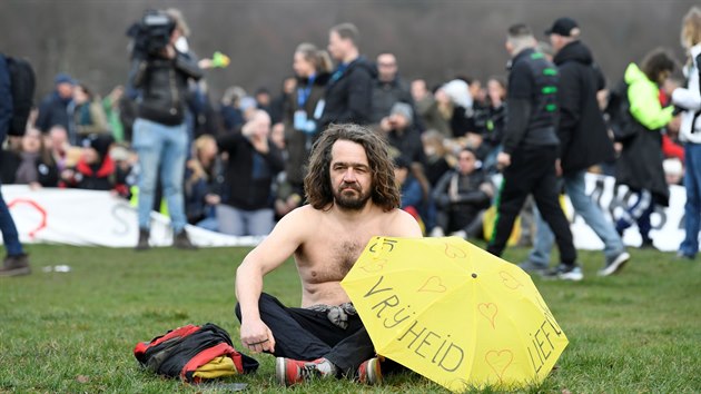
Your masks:
M604 78L594 63L591 50L580 40L580 28L571 18L560 18L545 31L554 51L553 61L560 71L557 104L560 106L560 168L564 190L574 211L594 230L604 244L604 265L599 272L608 276L619 272L631 255L625 252L613 223L586 195L585 174L589 167L614 157L596 93L604 89ZM525 270L542 272L550 264L553 235L536 216L536 236Z

